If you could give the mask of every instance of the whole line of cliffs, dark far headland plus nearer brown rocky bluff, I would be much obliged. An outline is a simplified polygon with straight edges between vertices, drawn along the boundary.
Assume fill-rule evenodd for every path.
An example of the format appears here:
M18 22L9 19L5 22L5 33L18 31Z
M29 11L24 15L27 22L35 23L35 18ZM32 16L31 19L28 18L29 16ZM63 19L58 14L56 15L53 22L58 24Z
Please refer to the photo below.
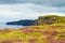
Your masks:
M10 22L6 25L23 25L23 26L43 26L43 25L65 25L65 16L56 16L56 15L47 15L39 16L38 19L35 20L18 20L18 22Z

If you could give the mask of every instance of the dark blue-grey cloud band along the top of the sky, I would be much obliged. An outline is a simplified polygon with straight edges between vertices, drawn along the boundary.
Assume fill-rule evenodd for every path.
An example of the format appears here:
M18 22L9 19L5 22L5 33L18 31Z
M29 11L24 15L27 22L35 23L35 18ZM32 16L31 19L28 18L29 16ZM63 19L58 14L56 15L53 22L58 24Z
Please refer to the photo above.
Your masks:
M65 0L0 0L1 4L36 3L40 5L65 6Z

